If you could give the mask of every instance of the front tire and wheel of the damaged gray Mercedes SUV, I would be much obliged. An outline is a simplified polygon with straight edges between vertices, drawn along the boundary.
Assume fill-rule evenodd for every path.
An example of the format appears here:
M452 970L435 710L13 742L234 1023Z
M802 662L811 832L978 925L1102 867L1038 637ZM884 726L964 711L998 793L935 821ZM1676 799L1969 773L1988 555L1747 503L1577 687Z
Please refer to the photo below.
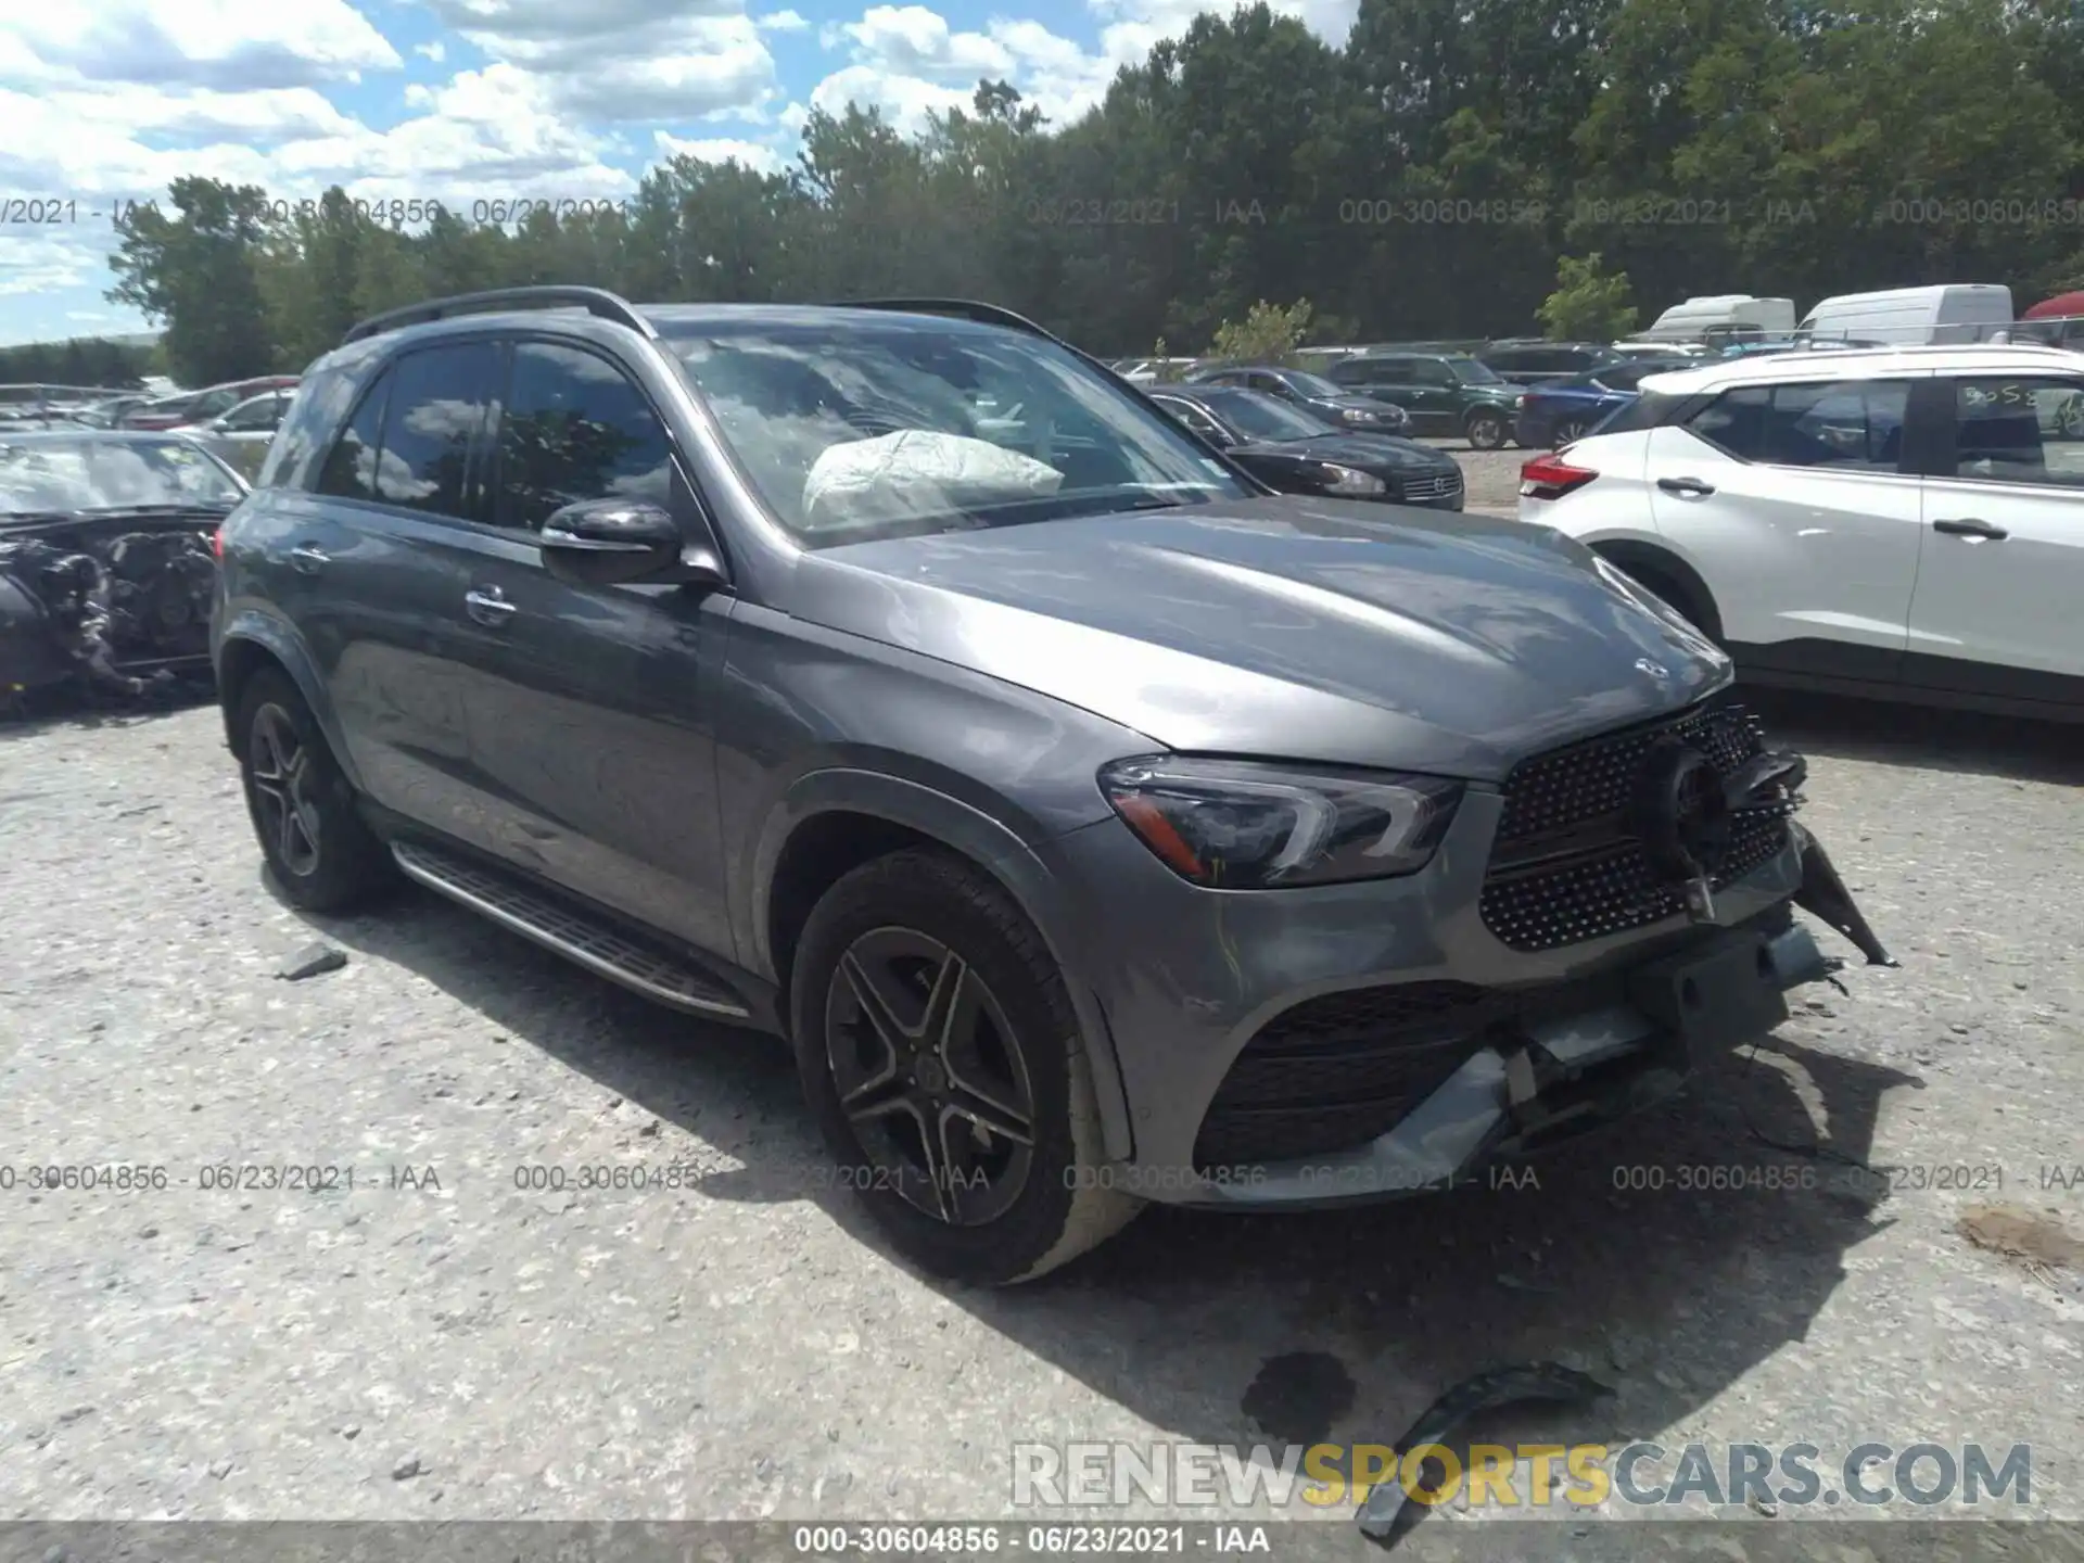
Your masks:
M884 996L882 1029L863 982ZM798 942L790 1034L842 1184L934 1275L1034 1280L1142 1205L1100 1186L1100 1119L1063 973L1013 898L954 857L896 852L825 892ZM979 1102L984 1134L969 1115ZM927 1121L944 1127L942 1177L925 1175Z

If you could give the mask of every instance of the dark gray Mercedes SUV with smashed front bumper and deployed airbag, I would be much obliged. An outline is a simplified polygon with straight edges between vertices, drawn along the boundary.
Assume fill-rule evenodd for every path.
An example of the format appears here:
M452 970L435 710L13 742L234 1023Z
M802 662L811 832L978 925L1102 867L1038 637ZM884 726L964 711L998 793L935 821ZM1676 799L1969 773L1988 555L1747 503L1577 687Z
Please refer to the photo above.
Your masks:
M413 879L786 1036L942 1275L1532 1155L1786 1019L1794 907L1888 961L1659 598L1277 496L988 306L396 311L221 559L294 904Z

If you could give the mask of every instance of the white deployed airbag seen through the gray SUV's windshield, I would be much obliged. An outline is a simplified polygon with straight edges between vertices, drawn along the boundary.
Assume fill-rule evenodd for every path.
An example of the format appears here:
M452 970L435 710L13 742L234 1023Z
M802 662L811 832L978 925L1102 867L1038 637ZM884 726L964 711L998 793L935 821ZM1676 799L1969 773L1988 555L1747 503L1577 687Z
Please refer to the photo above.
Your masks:
M1055 494L1063 473L1017 450L932 429L829 446L802 486L811 529Z

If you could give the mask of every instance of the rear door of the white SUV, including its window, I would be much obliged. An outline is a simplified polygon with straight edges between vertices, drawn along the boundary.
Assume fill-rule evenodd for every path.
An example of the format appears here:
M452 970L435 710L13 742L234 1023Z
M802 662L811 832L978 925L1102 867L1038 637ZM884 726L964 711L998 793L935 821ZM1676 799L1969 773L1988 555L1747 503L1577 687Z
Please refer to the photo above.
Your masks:
M1894 681L1924 527L1913 379L1736 386L1651 429L1644 483L1740 663Z

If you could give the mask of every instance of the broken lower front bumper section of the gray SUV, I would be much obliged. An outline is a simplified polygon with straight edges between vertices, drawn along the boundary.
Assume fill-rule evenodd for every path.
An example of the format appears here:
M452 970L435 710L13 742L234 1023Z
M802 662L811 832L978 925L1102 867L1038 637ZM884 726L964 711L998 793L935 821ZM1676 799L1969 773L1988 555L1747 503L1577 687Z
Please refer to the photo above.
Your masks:
M1755 1042L1788 1019L1786 994L1834 979L1792 919L1813 913L1869 965L1896 965L1876 940L1824 846L1790 821L1803 854L1792 902L1748 925L1619 973L1603 1002L1494 1025L1444 1084L1388 1134L1302 1161L1211 1167L1186 1205L1309 1209L1484 1182L1488 1169L1613 1123L1665 1096L1703 1052Z

